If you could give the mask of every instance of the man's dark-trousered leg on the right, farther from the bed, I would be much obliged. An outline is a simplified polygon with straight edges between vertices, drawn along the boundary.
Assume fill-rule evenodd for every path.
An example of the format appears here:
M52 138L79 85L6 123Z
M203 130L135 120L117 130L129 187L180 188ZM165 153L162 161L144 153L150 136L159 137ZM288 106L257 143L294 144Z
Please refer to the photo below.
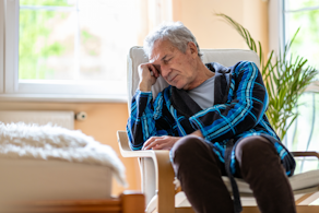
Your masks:
M271 142L262 137L243 139L235 155L262 213L296 212L291 185Z

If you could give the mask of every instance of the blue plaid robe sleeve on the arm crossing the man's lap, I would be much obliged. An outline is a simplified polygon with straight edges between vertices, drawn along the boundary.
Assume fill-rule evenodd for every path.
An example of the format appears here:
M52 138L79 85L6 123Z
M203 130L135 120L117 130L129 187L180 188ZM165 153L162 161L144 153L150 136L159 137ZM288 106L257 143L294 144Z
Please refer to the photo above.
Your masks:
M189 118L194 129L209 141L221 142L250 130L268 107L268 93L253 62L241 61L235 68L226 104L214 105Z

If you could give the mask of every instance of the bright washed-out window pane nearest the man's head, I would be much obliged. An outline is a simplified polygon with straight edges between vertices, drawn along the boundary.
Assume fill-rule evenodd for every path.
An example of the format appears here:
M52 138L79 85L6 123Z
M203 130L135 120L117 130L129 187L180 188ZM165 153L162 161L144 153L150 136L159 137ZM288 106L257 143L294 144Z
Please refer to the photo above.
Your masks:
M79 1L80 80L126 79L127 54L137 45L133 1Z

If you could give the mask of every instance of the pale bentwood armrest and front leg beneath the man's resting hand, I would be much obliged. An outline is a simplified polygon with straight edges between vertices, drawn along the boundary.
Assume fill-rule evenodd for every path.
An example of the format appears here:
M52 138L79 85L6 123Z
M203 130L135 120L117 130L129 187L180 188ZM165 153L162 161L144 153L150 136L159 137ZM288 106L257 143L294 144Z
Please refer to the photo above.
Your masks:
M157 212L175 212L175 173L167 150L131 151L126 131L117 131L119 150L123 157L152 157L156 173Z

